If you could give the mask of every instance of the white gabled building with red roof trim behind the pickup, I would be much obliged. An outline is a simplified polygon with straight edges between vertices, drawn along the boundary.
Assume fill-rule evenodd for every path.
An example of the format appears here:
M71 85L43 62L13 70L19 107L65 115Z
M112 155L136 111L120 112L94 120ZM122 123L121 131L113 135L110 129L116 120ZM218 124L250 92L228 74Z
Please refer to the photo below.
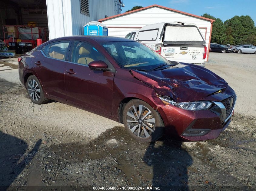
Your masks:
M108 27L108 35L125 37L129 32L138 30L148 24L161 22L187 22L196 24L203 34L208 53L205 61L208 61L209 47L211 41L212 23L214 20L197 16L194 14L178 11L160 5L151 5L134 11L99 19Z

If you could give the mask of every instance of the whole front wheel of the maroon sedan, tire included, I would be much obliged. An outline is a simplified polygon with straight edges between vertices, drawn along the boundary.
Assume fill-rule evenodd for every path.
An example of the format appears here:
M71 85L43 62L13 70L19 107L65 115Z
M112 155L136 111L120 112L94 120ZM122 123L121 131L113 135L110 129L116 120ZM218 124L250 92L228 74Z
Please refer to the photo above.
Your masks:
M153 142L164 134L161 116L145 101L129 101L123 109L122 117L128 134L137 141Z

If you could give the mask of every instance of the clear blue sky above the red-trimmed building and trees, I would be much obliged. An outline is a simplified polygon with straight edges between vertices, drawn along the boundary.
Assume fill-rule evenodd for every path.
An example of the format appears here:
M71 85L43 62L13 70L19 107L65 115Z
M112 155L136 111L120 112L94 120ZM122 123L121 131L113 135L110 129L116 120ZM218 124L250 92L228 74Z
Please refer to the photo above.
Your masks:
M121 13L134 6L162 5L201 16L208 13L223 22L235 15L249 15L256 24L256 1L254 0L121 0L125 7Z

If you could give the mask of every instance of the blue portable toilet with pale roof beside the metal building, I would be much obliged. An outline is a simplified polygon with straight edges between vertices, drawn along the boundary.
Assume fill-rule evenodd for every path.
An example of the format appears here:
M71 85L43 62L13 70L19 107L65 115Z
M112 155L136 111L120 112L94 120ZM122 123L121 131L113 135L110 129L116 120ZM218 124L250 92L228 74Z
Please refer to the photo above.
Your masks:
M91 21L84 25L84 35L108 36L108 27L97 21Z

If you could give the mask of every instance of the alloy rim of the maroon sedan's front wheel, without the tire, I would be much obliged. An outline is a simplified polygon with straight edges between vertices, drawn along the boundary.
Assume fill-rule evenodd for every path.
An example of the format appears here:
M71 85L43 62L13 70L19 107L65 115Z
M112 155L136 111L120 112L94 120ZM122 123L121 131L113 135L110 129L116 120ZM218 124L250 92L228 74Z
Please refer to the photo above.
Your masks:
M126 123L131 132L141 138L148 138L155 131L155 118L143 105L130 107L127 111Z

